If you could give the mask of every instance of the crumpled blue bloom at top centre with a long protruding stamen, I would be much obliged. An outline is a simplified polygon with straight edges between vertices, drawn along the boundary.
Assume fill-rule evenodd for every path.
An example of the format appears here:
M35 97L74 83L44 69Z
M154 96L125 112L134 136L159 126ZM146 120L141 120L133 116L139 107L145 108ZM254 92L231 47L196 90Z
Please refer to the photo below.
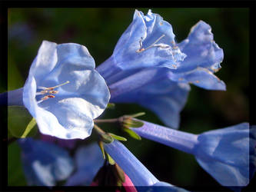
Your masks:
M145 51L140 51L142 48ZM160 15L148 11L148 15L135 11L133 22L127 28L111 58L98 66L105 78L111 78L123 70L148 67L177 68L185 54L175 45L172 27ZM111 68L111 71L109 70Z

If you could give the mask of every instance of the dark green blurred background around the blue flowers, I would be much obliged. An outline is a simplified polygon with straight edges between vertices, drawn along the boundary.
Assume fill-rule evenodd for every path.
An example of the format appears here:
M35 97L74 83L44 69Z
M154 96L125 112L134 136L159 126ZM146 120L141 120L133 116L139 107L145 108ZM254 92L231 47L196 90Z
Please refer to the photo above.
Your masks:
M137 8L148 12L148 8ZM193 134L249 121L249 9L248 8L151 8L171 23L176 41L187 37L199 20L211 25L214 41L224 50L221 70L216 73L227 91L206 91L191 85L181 112L181 131ZM111 56L121 34L130 25L135 8L9 8L8 9L8 90L21 88L43 40L58 44L85 45L96 65ZM101 118L145 111L141 119L162 124L151 111L136 104L116 104ZM108 124L101 126L111 129ZM124 136L127 136L123 134ZM95 139L94 133L87 141ZM128 137L125 146L159 180L186 189L207 189L219 184L199 167L194 157L162 144ZM26 185L17 144L8 146L8 185ZM199 188L196 188L199 187ZM227 188L221 188L228 190ZM250 190L250 186L246 188Z

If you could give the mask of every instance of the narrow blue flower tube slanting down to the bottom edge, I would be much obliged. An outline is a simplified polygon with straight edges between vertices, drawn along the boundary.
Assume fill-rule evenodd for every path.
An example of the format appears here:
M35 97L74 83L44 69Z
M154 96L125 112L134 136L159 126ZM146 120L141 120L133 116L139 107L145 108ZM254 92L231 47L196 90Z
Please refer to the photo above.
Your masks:
M159 181L151 172L131 154L128 149L119 141L105 144L105 151L115 160L125 174L131 179L135 187L163 186L168 187L166 191L187 191L174 185Z

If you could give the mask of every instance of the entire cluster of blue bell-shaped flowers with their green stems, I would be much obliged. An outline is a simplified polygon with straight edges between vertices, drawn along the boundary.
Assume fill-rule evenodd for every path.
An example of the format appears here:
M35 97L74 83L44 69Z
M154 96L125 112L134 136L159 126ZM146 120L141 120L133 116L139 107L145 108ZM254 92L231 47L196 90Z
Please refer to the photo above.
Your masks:
M187 191L158 180L121 144L125 137L98 127L117 122L131 137L194 155L222 186L247 186L256 170L256 127L242 123L202 134L175 130L190 84L225 91L214 75L223 57L207 23L198 22L188 38L176 42L171 24L151 10L147 15L135 10L113 54L97 68L85 46L43 41L24 87L8 92L8 105L28 109L41 132L40 139L18 139L28 184ZM168 127L137 119L141 114L96 119L108 102L140 104ZM83 141L92 130L98 144Z

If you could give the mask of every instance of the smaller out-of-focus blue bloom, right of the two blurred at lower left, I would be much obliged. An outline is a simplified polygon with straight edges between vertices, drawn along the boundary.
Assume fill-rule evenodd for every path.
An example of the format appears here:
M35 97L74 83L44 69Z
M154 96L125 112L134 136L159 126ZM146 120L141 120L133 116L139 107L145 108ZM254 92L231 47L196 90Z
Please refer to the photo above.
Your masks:
M79 147L75 152L76 171L68 178L65 185L90 185L103 163L104 159L98 144Z

